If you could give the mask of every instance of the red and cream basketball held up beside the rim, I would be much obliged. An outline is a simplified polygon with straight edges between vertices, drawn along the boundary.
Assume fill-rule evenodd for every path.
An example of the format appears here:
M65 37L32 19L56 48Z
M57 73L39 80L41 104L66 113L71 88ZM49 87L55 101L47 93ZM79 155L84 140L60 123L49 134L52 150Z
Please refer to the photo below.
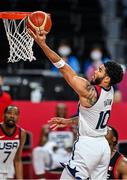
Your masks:
M27 17L26 26L33 32L36 30L50 32L52 26L51 16L43 11L35 11Z

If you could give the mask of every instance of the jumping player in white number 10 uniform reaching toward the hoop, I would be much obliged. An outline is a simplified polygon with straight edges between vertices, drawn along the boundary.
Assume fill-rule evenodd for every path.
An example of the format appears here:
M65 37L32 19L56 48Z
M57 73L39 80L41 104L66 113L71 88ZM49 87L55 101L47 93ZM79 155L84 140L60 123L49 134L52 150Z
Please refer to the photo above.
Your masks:
M119 83L123 78L121 66L114 61L106 62L94 72L91 82L89 82L79 77L58 54L47 46L45 31L36 31L36 34L31 30L28 31L49 60L59 69L64 79L79 95L79 137L74 143L72 157L62 173L61 179L84 180L88 177L90 179L106 179L110 147L105 135L113 103L112 85ZM65 122L54 118L50 123L60 127Z

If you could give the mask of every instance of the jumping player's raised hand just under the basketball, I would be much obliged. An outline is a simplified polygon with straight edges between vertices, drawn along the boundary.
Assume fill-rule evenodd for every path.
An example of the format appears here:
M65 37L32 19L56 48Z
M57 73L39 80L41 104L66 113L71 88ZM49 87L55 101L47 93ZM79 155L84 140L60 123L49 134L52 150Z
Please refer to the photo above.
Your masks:
M41 47L45 44L47 32L44 30L33 32L31 29L27 30L29 35L37 42L37 44Z

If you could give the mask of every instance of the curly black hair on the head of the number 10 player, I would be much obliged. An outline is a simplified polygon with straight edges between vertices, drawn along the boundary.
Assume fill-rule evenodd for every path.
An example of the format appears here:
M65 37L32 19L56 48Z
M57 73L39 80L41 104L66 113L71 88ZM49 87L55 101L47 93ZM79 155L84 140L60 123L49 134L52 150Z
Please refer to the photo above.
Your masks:
M115 85L123 79L123 69L120 64L115 61L107 61L104 63L106 73L110 77L110 85Z

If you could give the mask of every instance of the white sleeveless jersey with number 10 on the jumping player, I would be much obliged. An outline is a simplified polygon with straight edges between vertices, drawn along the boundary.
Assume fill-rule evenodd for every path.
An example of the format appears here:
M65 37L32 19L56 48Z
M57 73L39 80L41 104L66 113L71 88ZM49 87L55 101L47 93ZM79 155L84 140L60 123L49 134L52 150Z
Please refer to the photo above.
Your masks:
M99 94L97 102L90 108L79 107L79 135L103 136L107 134L107 122L113 103L113 87L105 90L95 86Z

